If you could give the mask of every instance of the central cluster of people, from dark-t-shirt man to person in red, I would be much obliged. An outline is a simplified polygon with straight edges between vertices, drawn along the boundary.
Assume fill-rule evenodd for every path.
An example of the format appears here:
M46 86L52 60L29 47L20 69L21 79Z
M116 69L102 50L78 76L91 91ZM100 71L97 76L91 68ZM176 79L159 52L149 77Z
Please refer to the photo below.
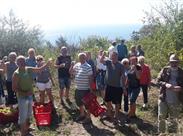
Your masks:
M135 48L135 52L135 54L131 51L128 53L124 40L119 45L113 41L108 49L109 56L105 51L100 50L95 61L91 57L91 52L85 51L78 54L79 62L75 64L67 55L66 47L61 48L61 54L55 64L58 68L61 103L64 88L66 100L69 101L70 77L74 77L75 100L80 110L77 121L91 122L90 113L85 111L82 99L93 89L94 82L96 82L96 89L101 92L102 104L107 107L107 118L112 119L114 123L120 120L119 111L123 94L124 112L128 115L128 121L136 118L136 100L141 88L144 94L143 108L147 108L147 92L151 82L150 68L144 63L144 52L140 45L137 49ZM113 104L115 105L114 115Z

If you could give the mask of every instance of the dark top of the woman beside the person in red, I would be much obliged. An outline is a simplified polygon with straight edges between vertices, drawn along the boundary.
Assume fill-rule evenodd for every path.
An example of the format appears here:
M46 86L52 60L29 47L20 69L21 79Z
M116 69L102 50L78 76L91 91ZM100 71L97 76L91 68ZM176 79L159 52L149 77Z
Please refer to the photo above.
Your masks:
M138 71L141 70L141 67L139 65L136 65L136 69ZM140 80L137 78L136 73L134 70L129 70L128 74L128 87L129 88L138 88L140 87Z

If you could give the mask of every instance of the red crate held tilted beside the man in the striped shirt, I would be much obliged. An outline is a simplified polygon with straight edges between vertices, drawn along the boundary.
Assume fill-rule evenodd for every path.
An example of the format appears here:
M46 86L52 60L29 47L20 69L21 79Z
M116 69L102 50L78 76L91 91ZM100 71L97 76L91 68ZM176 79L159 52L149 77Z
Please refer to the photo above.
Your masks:
M100 116L106 111L105 108L100 106L97 101L96 95L94 95L93 93L88 93L87 95L85 95L82 101L85 104L86 108L89 109L90 113L93 114L95 117Z

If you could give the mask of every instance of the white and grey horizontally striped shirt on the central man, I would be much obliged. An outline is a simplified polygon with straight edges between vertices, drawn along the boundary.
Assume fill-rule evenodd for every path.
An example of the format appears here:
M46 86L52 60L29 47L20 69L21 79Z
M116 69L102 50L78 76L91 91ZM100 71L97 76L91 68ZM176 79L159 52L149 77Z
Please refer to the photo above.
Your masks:
M90 88L89 76L93 74L92 67L85 62L84 64L77 63L73 67L75 71L75 83L78 90L88 90Z

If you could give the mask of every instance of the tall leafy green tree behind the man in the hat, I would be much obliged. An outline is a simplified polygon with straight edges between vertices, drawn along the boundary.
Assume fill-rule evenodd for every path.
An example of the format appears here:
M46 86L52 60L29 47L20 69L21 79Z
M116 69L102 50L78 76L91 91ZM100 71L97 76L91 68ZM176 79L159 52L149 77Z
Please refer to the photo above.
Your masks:
M156 72L168 62L169 54L183 47L183 9L179 0L164 1L160 7L145 12L144 26L137 32L146 60Z

